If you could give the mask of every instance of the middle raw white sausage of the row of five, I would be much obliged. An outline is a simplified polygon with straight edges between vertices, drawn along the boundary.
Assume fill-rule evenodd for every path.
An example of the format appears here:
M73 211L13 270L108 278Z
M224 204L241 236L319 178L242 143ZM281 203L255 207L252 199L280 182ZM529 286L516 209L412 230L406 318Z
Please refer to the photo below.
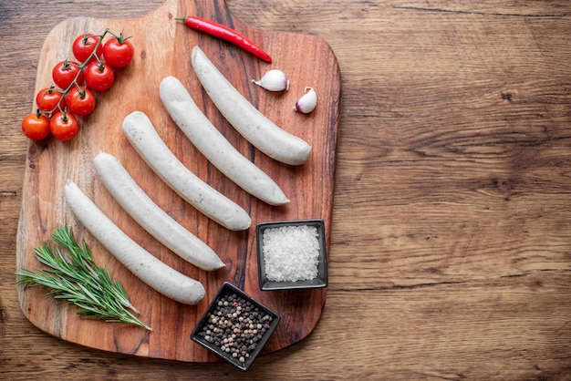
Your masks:
M186 168L144 113L130 113L123 120L123 132L151 169L198 211L233 231L250 227L252 220L248 213Z

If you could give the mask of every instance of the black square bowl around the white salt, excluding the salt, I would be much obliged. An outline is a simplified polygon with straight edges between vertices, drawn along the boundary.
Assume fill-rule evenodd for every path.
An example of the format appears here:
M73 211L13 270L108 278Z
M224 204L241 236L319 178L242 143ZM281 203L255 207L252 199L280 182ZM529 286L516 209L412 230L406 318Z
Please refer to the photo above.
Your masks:
M301 281L270 281L265 273L264 259L264 232L268 229L283 226L315 226L317 228L317 241L319 242L319 256L317 264L317 277L310 280ZM295 290L307 288L327 287L327 250L325 239L325 223L321 219L317 220L296 220L296 221L272 221L260 222L255 227L257 257L258 257L258 282L262 291Z

